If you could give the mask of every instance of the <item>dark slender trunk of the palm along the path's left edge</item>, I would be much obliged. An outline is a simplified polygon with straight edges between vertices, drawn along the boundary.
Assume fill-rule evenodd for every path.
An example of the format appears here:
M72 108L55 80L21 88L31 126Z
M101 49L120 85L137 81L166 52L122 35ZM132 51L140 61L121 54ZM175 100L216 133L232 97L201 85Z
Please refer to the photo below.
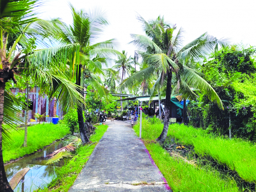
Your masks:
M76 84L81 86L81 65L79 65L78 74L76 76L77 76ZM83 91L81 89L78 88L77 91L80 92L81 95L83 95ZM78 117L78 125L79 125L81 140L82 140L82 143L84 144L89 142L90 140L86 134L86 129L84 127L83 109L84 109L84 103L80 102L77 106L77 117Z

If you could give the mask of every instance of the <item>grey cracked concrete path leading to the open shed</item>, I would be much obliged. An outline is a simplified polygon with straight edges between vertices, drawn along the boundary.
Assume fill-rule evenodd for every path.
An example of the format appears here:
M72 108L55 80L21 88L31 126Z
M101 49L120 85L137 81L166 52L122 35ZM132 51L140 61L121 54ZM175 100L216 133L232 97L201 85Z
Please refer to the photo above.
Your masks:
M106 124L108 130L69 192L172 191L131 125L116 120Z

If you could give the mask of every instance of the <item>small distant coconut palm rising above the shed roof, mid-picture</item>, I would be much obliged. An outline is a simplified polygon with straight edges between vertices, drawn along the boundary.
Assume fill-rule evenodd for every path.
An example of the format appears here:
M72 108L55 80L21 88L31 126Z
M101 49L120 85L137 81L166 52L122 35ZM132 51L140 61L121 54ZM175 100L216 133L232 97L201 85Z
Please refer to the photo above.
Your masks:
M133 58L130 56L127 58L127 52L125 53L125 50L122 51L122 55L118 56L117 60L114 60L115 64L112 68L115 69L120 73L121 77L121 83L123 82L125 78L125 74L129 73L131 70L135 70L135 68L132 66L134 63ZM122 90L120 90L120 93L122 93ZM120 97L122 99L122 97ZM121 109L123 109L122 101L120 102Z

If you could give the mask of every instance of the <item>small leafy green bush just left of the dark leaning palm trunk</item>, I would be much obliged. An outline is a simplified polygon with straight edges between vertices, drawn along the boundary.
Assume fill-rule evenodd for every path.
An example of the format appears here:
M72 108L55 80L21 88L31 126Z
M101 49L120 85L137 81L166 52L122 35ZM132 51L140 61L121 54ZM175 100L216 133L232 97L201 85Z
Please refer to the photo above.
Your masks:
M75 129L78 130L78 117L77 110L70 109L68 113L64 116L64 122L69 127L70 132L73 134Z

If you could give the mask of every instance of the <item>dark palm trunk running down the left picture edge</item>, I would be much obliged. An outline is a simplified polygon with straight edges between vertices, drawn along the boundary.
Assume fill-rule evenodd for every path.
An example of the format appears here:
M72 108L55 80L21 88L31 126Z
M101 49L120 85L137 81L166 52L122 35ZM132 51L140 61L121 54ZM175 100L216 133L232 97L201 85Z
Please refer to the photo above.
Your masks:
M3 192L13 192L10 187L5 170L4 170L4 160L3 160L3 150L2 150L2 122L4 118L4 89L5 83L0 84L0 189Z

